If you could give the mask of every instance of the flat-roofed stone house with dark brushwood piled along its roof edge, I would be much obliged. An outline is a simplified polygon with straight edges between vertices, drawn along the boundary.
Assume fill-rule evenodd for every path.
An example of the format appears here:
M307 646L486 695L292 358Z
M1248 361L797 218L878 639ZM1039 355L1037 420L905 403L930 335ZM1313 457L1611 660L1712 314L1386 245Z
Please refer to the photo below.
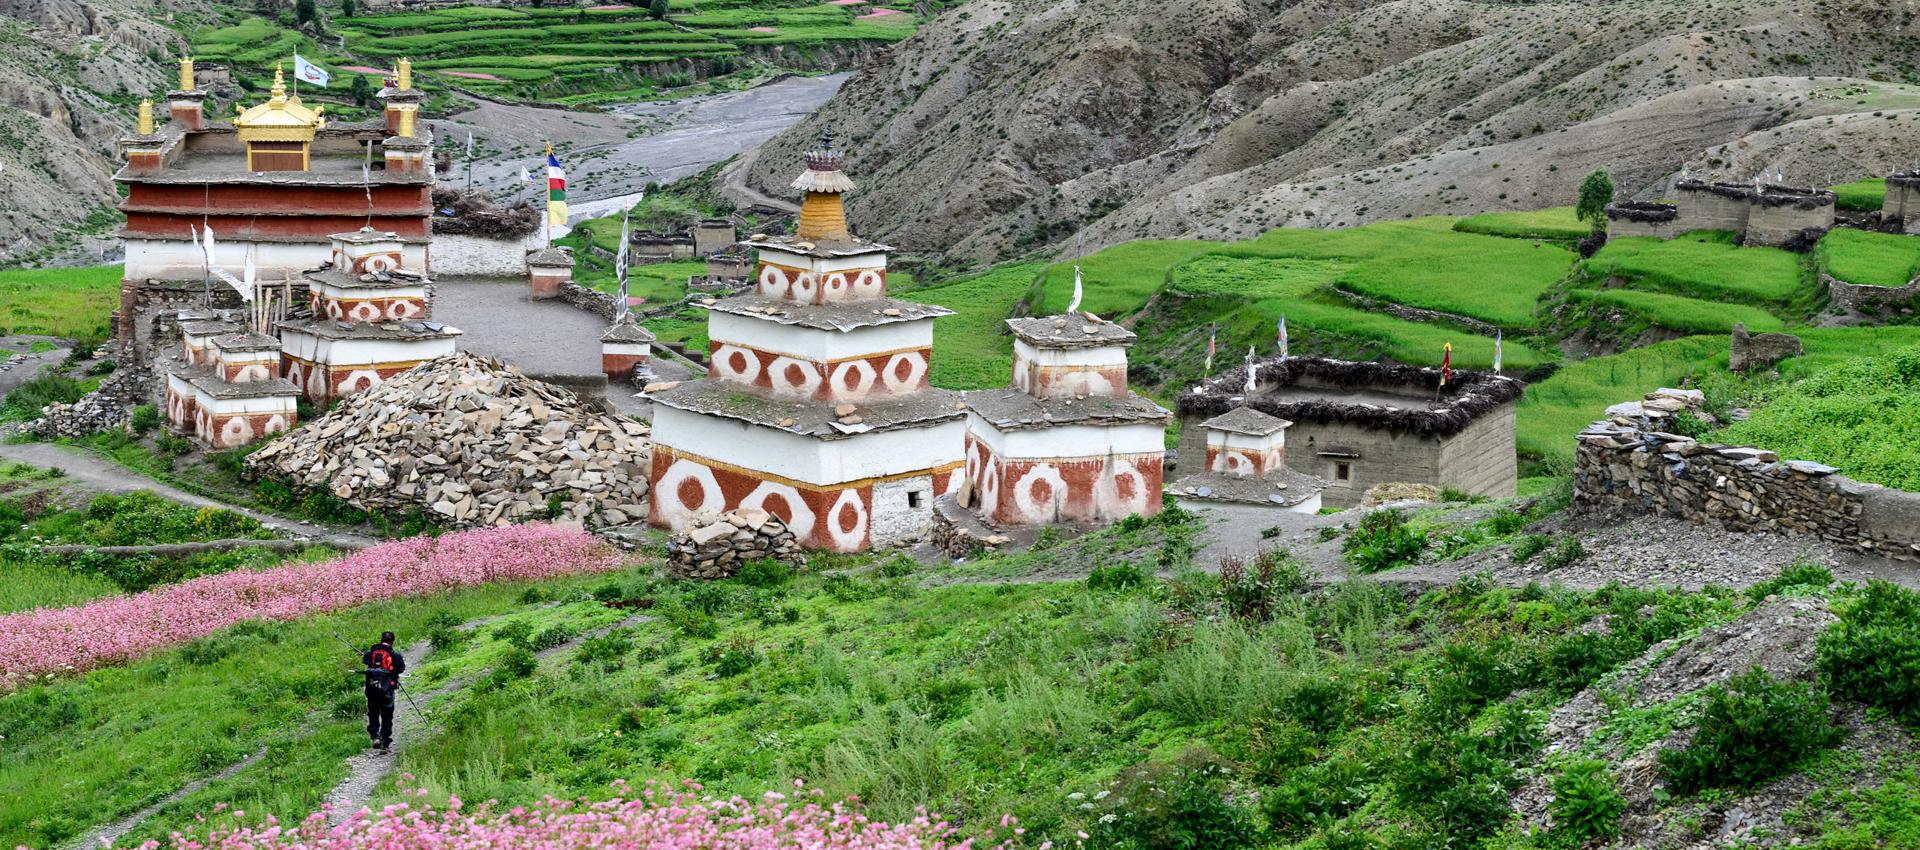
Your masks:
M1357 505L1379 484L1432 484L1490 497L1517 484L1521 382L1438 368L1288 357L1227 370L1179 397L1183 474L1208 464L1206 422L1236 407L1286 420L1286 468L1327 484L1327 507ZM1217 422L1215 422L1217 424ZM1217 455L1217 451L1215 451Z

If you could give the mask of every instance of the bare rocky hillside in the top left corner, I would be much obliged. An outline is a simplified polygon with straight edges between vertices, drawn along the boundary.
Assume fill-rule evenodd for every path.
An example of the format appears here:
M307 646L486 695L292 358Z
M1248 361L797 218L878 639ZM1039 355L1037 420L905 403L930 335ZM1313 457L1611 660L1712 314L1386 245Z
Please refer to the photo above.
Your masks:
M0 0L0 261L113 203L113 138L167 88L182 44L161 19L184 6Z

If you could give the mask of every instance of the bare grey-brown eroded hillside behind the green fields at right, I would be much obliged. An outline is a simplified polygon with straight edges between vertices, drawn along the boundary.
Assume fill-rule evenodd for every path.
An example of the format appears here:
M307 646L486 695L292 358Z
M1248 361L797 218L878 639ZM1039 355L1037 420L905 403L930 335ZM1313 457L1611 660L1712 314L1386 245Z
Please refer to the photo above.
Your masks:
M1905 2L977 0L747 180L833 123L866 232L954 259L1530 209L1597 165L1834 182L1920 155L1916 35Z

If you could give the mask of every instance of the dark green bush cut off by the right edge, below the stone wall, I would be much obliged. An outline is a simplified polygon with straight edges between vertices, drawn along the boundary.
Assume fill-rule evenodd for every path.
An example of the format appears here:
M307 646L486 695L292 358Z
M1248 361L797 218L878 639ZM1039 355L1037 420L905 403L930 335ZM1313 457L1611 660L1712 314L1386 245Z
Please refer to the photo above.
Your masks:
M1868 581L1820 635L1820 673L1836 697L1920 727L1920 593Z

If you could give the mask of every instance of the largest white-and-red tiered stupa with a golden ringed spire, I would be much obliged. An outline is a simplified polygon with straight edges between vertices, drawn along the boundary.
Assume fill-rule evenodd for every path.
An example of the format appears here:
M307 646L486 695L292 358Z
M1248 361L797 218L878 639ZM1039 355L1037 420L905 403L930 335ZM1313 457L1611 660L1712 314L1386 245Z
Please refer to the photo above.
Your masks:
M966 411L927 384L933 319L887 297L887 246L847 228L841 153L806 153L793 236L756 236L749 292L705 307L707 380L653 397L649 520L760 508L839 553L920 537L960 484Z

